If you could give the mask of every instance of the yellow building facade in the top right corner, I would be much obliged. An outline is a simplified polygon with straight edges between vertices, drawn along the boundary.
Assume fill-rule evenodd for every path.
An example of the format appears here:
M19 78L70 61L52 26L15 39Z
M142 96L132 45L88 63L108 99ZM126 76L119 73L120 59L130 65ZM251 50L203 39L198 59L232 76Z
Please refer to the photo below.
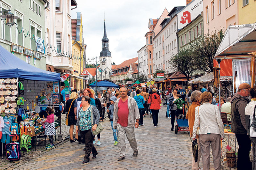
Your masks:
M255 0L238 1L238 24L253 24L256 22Z

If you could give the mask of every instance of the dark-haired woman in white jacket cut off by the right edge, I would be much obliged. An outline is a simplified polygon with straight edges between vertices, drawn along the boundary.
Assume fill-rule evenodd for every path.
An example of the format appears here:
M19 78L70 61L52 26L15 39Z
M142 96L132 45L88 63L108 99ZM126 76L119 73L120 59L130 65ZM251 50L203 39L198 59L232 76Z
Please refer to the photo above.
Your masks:
M245 115L253 115L256 105L256 86L250 91L252 97L250 103L245 107ZM250 137L252 141L252 170L256 170L256 137Z

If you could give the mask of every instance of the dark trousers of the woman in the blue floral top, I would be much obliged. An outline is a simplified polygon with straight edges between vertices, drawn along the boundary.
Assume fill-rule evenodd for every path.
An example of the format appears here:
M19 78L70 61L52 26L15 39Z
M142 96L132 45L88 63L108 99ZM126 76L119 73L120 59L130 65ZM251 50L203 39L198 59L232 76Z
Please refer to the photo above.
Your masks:
M84 160L90 160L90 155L96 155L98 152L93 145L94 136L92 135L92 130L81 130L81 136L85 138L85 155Z

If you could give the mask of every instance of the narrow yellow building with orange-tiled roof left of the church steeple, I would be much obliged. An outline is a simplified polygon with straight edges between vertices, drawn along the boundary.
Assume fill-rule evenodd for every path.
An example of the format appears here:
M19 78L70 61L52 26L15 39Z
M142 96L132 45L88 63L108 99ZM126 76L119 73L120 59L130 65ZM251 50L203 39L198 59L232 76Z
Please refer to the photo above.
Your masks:
M85 44L83 38L83 25L82 14L76 12L77 18L71 19L72 29L72 66L73 66L73 78L71 78L71 84L76 89L84 89L85 81L80 79L81 73L84 70L84 58L85 58Z

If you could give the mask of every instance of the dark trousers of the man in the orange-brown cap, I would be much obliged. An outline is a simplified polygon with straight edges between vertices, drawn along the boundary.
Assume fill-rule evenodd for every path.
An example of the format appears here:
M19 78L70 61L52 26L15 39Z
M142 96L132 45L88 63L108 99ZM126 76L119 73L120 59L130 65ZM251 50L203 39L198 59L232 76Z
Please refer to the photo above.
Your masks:
M250 161L251 140L247 134L236 134L238 143L237 151L237 170L252 169L252 162Z

